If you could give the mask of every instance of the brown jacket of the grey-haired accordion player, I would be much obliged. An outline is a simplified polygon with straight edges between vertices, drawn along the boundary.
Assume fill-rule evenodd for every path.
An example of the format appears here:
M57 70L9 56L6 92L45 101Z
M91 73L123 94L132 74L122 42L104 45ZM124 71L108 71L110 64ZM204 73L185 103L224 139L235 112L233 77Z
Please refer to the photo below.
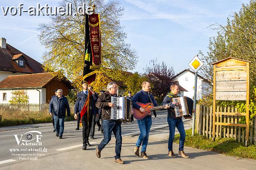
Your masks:
M109 92L104 92L100 95L96 102L96 107L102 109L102 119L110 120L111 107L108 106L108 103L111 102L111 94ZM116 97L116 95L114 95Z

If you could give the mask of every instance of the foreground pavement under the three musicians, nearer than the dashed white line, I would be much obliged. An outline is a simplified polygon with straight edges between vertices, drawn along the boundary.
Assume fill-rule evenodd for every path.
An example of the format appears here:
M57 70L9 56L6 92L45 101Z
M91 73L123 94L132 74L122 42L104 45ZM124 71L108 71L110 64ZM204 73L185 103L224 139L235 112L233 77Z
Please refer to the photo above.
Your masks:
M185 127L189 128L191 123L186 123ZM150 135L147 147L147 154L151 157L149 160L137 158L134 156L134 145L138 136L125 136L122 141L122 160L125 164L121 165L114 162L115 139L112 140L101 152L101 158L96 156L96 145L102 138L94 140L97 144L82 150L76 149L59 151L58 154L50 154L41 157L38 160L19 161L15 164L9 164L1 169L99 169L99 170L248 170L256 167L256 160L239 159L233 156L224 156L214 152L184 147L184 151L191 158L170 158L167 156L168 131ZM56 147L61 148L62 146ZM174 153L178 154L178 145L173 144Z

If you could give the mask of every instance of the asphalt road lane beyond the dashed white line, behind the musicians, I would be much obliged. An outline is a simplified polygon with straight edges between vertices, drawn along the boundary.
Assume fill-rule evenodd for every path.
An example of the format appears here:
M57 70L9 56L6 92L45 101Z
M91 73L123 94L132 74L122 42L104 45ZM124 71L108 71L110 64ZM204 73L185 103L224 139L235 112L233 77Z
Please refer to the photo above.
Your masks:
M152 127L151 127L152 131L159 128L167 127L167 126L168 124L166 121L166 112L158 112L158 116L156 118L153 116ZM52 123L41 123L41 124L35 124L35 125L22 125L22 126L0 128L0 139L1 139L0 140L0 150L1 150L0 167L6 164L6 163L3 163L5 161L7 161L8 163L8 161L13 160L12 163L14 163L17 161L28 160L28 157L29 158L37 157L37 159L40 159L40 158L43 158L44 156L60 153L60 150L58 149L67 148L67 147L73 147L72 149L82 148L82 127L80 128L80 130L75 130L75 128L76 128L76 121L65 122L64 134L62 136L62 139L58 139L58 137L55 136L56 133L52 132L52 129L53 129ZM96 131L95 131L94 137L96 139L89 139L90 143L94 145L100 143L100 141L103 139L103 134L97 131L98 129L97 125L95 129ZM31 131L38 131L41 134L36 132L31 132ZM26 133L28 132L32 133L34 140L27 143L22 142L22 140L28 141L26 139ZM139 134L139 129L138 129L137 121L122 123L122 136L134 136L138 134ZM112 135L112 137L114 138L114 135ZM40 139L37 139L37 138L40 138ZM34 141L36 140L40 141L41 145L31 146L33 144L29 144L29 143L34 143ZM37 151L37 150L35 151L35 149L40 149L40 148L42 148L42 151ZM43 152L43 149L45 152ZM46 149L47 149L47 152L46 152ZM32 156L30 155L24 156L23 154L32 154Z

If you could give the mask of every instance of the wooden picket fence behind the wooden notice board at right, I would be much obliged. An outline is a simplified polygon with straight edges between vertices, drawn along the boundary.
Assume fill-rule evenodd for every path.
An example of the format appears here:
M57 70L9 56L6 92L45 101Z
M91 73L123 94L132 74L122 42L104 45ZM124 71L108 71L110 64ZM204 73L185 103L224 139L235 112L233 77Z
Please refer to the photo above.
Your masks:
M234 107L216 107L217 111L237 113L237 108ZM196 105L196 131L198 134L212 138L212 106ZM240 123L243 121L243 116L238 115L215 115L216 122L223 123ZM249 125L249 142L256 144L256 117L251 119ZM215 137L217 138L234 138L238 142L245 142L245 127L236 126L215 126Z

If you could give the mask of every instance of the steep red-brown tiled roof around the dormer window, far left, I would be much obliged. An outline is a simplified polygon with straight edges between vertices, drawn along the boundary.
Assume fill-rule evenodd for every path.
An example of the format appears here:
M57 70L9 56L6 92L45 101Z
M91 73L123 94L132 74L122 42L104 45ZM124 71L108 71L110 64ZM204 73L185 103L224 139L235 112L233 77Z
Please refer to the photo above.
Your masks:
M18 59L22 55L25 59L25 68L19 67L12 59ZM15 56L15 57L14 57ZM19 56L20 57L20 56ZM6 43L6 49L0 48L0 70L10 72L41 73L44 72L42 64L28 55Z

